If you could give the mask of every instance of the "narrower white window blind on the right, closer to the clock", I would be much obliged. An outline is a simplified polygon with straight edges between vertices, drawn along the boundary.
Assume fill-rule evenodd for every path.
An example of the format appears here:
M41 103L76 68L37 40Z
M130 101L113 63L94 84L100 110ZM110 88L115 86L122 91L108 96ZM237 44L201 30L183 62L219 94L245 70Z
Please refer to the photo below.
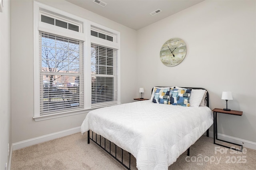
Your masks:
M91 43L92 108L118 103L117 49Z

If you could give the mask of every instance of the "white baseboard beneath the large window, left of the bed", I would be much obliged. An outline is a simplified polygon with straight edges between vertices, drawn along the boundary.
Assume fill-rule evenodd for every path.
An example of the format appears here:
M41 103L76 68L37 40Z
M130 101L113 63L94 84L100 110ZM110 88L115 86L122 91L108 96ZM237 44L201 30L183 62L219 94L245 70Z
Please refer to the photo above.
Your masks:
M64 136L68 136L70 134L78 133L78 132L81 132L80 129L81 129L81 127L70 128L70 129L67 129L67 130L60 131L60 132L51 133L51 134L47 134L47 135L44 135L44 136L39 136L37 138L32 138L32 139L16 142L16 143L12 144L13 150L25 148L27 146L32 146L34 144L39 144L39 143L46 142L46 141L49 141L49 140L53 140L53 139L56 139L56 138L61 138L61 137L64 137Z

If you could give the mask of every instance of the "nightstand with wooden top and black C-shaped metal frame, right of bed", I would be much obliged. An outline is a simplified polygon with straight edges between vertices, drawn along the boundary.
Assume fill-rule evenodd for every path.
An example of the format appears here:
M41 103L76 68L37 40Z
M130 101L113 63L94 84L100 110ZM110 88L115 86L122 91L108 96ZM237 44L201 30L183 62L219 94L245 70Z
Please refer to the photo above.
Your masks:
M230 148L229 146L224 146L222 144L215 143L215 138L216 138L216 140L220 140L222 142L235 144L235 143L232 143L232 142L228 142L228 141L225 141L225 140L218 139L217 113L224 113L224 114L228 114L228 115L242 116L243 112L242 111L224 111L223 109L217 109L217 108L213 109L212 111L213 111L213 138L214 138L213 143L217 144L217 145L220 145L220 146L223 146L223 147L226 147L226 148ZM236 148L230 148L230 149L234 149L234 150L238 150L238 151L242 152L243 145L240 145L240 144L235 144L235 145L240 146L240 150L238 150Z

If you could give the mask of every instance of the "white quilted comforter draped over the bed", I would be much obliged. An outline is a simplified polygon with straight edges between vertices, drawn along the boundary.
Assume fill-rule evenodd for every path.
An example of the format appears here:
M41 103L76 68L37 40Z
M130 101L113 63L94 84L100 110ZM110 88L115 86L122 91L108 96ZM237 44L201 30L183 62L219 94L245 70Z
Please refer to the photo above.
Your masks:
M81 126L130 152L139 170L167 170L212 125L208 107L137 101L90 111Z

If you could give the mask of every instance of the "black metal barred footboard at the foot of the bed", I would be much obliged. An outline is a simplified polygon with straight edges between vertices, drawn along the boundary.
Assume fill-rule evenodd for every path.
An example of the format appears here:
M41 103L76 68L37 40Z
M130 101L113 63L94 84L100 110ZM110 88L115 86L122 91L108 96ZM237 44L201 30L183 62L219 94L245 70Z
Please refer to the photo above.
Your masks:
M94 137L93 134L95 134L95 137ZM122 148L120 148L122 154L121 154L121 160L119 160L118 157L117 157L117 154L116 154L116 144L114 144L113 142L108 140L109 141L109 151L108 151L106 149L106 138L102 137L101 135L99 135L99 136L100 136L100 139L99 139L100 141L98 141L98 139L97 139L97 134L92 131L92 137L90 137L90 130L88 130L88 144L90 144L90 140L92 140L94 143L96 143L98 146L100 146L100 148L105 150L108 154L110 154L110 156L112 156L115 160L117 160L120 164L122 164L126 169L130 170L131 169L131 153L128 152L128 154L129 154L129 165L127 166L126 164L124 164L124 150ZM102 138L104 138L103 146L102 146L103 142L101 140ZM111 149L113 149L113 148L111 148L111 143L114 144L114 146L115 146L114 147L114 149L115 149L114 154L112 154L112 152L111 152Z

